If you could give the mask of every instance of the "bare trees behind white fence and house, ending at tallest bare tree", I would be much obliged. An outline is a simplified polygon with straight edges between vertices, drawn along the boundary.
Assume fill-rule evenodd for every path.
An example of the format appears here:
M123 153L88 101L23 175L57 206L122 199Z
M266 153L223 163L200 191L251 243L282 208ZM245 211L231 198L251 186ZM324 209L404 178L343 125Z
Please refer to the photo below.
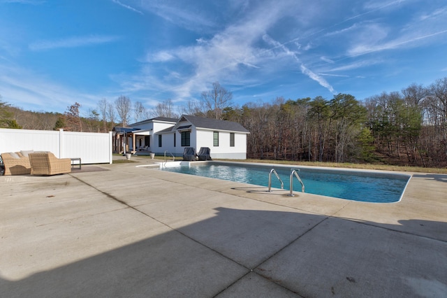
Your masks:
M0 127L18 129L65 129L75 132L110 132L116 125L127 127L131 123L149 118L179 118L182 114L222 119L223 108L232 104L233 94L218 82L212 89L202 92L200 100L175 106L172 99L159 102L147 109L140 101L119 96L114 101L101 99L95 108L82 113L82 104L67 106L64 113L24 111L0 100ZM1 97L0 97L1 99Z

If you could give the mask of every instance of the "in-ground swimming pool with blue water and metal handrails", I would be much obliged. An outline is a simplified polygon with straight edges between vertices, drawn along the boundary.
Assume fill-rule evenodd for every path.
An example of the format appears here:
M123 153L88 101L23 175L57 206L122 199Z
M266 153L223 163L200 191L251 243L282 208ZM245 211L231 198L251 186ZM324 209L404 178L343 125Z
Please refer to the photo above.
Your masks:
M400 201L409 178L411 178L410 175L400 173L314 169L303 166L265 166L230 162L186 162L180 164L182 165L161 166L161 169L267 187L268 174L270 169L274 168L284 182L285 190L290 190L291 169L299 169L298 174L307 193L374 203ZM272 187L281 187L281 183L274 175L272 175ZM301 190L301 185L296 178L293 178L293 190L295 192Z

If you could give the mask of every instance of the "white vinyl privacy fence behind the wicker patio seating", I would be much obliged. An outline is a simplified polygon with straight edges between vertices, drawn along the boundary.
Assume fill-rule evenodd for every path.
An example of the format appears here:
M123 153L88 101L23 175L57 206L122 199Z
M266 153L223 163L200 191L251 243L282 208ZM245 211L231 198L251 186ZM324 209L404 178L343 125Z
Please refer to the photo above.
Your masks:
M0 153L50 151L58 158L80 157L82 164L112 163L112 132L0 129Z

